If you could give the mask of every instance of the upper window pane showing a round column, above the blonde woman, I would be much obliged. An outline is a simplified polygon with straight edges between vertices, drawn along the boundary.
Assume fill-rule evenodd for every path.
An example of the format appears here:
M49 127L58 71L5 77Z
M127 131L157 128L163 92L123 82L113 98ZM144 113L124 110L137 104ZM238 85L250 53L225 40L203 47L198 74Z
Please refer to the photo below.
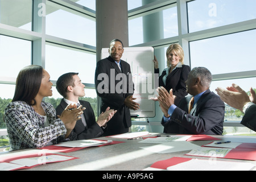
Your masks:
M178 35L177 7L129 20L129 46Z

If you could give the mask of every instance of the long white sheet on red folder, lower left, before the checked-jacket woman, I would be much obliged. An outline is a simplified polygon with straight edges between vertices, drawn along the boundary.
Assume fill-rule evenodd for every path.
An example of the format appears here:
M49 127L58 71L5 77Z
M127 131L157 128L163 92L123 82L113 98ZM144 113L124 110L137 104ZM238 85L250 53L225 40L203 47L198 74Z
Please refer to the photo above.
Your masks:
M33 158L17 159L17 160L11 161L10 163L31 167L38 164L60 162L60 161L69 160L69 159L73 159L73 157L63 156L63 155L43 155L43 156L36 156Z

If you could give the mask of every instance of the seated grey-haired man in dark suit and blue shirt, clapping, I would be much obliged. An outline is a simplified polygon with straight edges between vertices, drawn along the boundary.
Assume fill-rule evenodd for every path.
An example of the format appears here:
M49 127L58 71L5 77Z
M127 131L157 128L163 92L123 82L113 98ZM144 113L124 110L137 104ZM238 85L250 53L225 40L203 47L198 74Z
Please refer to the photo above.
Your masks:
M179 107L174 105L172 90L169 94L166 89L158 88L164 133L222 135L225 105L210 92L211 82L212 74L207 68L193 68L186 81L191 96L183 98Z

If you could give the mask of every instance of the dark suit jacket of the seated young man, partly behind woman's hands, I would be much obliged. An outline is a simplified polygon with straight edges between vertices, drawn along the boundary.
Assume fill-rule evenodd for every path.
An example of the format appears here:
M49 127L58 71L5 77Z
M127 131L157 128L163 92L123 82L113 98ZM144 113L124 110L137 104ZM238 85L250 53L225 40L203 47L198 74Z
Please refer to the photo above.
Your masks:
M84 114L87 126L86 127L84 126L81 119L77 121L75 128L73 129L71 135L69 136L69 139L81 140L81 139L91 139L91 138L100 137L102 134L104 134L104 131L96 123L92 106L90 106L90 103L86 101L79 101L79 102L82 105L82 107L86 108L83 114ZM67 106L68 106L67 102L65 102L62 99L60 102L60 105L56 107L56 115L60 115Z

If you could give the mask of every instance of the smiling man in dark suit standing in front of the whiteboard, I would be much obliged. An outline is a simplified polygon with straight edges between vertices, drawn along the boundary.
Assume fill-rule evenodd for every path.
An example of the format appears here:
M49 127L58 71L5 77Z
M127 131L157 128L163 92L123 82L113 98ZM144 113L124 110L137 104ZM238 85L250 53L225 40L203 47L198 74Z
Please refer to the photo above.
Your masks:
M127 133L131 126L130 109L138 110L139 104L134 102L134 85L130 65L121 60L123 54L121 40L110 42L110 56L98 61L95 71L95 86L101 98L101 111L108 106L117 110L108 122L105 136Z

